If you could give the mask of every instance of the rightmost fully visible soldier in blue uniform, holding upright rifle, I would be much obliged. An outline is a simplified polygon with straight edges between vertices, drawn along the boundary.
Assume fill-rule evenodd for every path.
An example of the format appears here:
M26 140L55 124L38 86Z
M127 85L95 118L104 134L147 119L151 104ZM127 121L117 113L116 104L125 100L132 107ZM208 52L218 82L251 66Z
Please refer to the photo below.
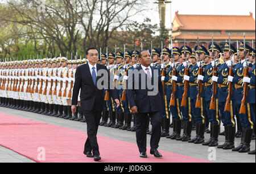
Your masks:
M239 48L239 57L241 62L237 66L237 72L234 74L234 77L228 76L228 81L233 82L236 88L236 98L237 98L237 109L240 111L239 117L242 125L242 138L241 143L238 147L233 148L232 151L239 151L239 152L249 152L250 151L250 142L251 136L253 134L253 121L251 121L250 115L250 104L246 101L246 94L247 88L246 82L243 82L243 76L247 76L245 74L247 72L248 64L247 64L247 57L249 56L251 47L245 43L240 42ZM249 70L251 70L249 68ZM250 72L250 71L249 71ZM243 86L244 85L244 86ZM243 109L245 108L245 109Z

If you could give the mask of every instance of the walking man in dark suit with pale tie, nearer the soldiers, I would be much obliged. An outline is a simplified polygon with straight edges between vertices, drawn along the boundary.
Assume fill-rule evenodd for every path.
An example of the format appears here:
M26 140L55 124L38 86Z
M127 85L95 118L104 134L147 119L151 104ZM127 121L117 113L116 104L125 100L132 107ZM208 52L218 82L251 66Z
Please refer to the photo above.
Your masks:
M150 154L155 157L162 157L157 150L161 136L160 118L164 101L160 70L150 66L151 56L148 51L139 53L139 59L141 59L141 65L133 70L133 74L129 76L128 80L128 83L132 83L133 89L127 90L131 111L136 114L134 119L136 121L137 145L141 153L140 157L147 158L146 118L151 117L152 134L150 139ZM139 71L139 73L135 71ZM135 74L139 74L137 80ZM151 85L154 84L154 89L148 88L148 82L151 82ZM144 85L146 89L143 89L143 84L146 84ZM157 90L155 91L155 89ZM155 94L150 93L153 91L155 91Z

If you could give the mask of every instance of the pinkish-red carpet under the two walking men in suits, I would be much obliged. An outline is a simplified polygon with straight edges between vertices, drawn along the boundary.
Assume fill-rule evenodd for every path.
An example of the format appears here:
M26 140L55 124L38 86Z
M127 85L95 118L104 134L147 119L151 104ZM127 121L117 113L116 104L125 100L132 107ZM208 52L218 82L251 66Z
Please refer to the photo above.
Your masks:
M36 162L94 162L92 158L86 158L82 153L87 137L86 132L2 113L0 113L0 132L1 146ZM163 158L157 159L150 155L150 148L147 148L148 158L142 159L139 158L137 144L100 135L97 136L97 139L100 146L101 162L105 163L209 162L160 150ZM46 160L44 161L40 160L40 157L42 158L40 152L42 151L38 151L39 147L43 147L46 151ZM121 156L125 156L125 158L121 159Z

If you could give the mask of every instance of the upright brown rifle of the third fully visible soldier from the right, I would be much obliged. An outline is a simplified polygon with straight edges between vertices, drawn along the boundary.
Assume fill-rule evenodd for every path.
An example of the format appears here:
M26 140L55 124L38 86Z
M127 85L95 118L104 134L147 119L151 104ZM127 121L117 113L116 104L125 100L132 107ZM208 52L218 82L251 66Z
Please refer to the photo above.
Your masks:
M212 35L212 55L214 57L213 76L217 76L215 53L214 53L214 50L213 50L213 35ZM213 81L213 84L212 84L212 98L210 98L210 107L209 107L209 109L216 110L216 97L215 97L216 93L217 93L217 82Z

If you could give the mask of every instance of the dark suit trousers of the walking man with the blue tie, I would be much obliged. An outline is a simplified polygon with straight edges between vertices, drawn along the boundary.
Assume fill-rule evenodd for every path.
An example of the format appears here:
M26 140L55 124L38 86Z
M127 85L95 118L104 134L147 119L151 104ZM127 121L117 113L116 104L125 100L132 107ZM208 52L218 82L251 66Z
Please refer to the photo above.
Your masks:
M93 108L91 111L82 111L86 119L88 138L84 144L84 151L93 151L93 155L100 155L97 143L98 125L100 124L102 111Z

